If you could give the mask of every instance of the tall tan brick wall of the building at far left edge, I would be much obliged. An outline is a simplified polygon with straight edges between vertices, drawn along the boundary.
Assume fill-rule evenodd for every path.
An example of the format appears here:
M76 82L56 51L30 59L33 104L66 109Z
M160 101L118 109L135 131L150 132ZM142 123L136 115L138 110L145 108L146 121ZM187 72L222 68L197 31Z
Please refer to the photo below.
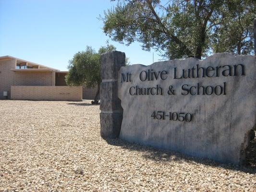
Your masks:
M0 60L0 99L4 99L4 91L8 91L8 98L11 98L11 85L14 82L14 72L16 59Z

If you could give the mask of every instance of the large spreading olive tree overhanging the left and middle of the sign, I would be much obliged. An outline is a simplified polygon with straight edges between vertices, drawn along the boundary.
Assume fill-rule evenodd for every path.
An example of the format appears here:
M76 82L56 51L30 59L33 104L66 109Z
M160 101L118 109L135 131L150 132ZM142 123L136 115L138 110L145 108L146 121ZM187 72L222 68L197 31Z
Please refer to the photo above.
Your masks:
M229 25L225 20L231 11L228 7L236 1L170 0L163 5L160 0L123 0L101 18L103 31L126 45L138 41L144 50L154 48L170 60L201 59L213 49L217 27L224 22ZM253 0L243 2L254 9Z

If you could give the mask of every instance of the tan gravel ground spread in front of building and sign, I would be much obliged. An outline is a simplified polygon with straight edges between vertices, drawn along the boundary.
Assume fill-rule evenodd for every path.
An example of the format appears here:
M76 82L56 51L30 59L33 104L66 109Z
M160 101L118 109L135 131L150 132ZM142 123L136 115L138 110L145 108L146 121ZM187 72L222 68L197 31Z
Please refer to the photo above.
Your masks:
M99 106L88 101L0 101L0 192L256 192L254 166L105 141L99 131Z

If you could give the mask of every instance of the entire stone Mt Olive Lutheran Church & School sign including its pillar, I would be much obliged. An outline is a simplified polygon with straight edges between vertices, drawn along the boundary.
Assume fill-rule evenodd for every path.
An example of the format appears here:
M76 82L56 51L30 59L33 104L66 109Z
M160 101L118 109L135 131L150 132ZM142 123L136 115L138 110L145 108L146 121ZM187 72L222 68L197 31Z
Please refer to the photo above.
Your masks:
M256 130L256 57L218 53L124 66L101 56L103 138L242 164Z

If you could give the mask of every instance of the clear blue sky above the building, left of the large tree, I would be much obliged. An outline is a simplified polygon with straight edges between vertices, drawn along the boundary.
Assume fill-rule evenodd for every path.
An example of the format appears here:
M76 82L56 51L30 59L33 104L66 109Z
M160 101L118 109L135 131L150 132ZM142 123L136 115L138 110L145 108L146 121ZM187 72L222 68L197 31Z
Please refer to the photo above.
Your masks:
M110 0L0 0L0 56L67 70L68 60L85 47L96 50L109 37L98 20L115 5ZM110 40L131 64L151 64L152 53L139 43L129 47ZM154 51L154 61L161 59Z

